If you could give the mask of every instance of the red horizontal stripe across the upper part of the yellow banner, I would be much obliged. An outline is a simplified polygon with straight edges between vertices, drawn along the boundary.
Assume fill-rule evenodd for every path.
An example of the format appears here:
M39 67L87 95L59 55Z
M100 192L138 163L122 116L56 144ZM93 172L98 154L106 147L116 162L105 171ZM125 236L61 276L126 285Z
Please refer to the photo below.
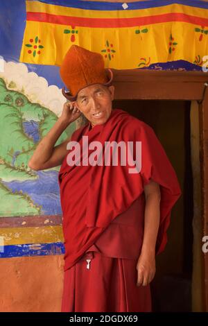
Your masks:
M82 27L97 27L97 28L119 28L133 27L139 25L157 24L164 22L187 22L200 26L208 26L208 19L190 16L181 12L170 12L163 15L154 15L147 17L134 18L83 18L70 17L61 15L51 15L44 12L27 12L27 20L35 22L45 22L60 25L73 25Z

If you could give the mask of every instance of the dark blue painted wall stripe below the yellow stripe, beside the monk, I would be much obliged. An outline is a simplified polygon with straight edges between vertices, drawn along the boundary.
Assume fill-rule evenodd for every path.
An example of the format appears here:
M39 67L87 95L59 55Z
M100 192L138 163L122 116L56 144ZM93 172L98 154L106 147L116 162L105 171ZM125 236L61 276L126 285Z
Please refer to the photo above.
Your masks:
M1 246L0 249L0 258L62 255L65 251L62 242Z

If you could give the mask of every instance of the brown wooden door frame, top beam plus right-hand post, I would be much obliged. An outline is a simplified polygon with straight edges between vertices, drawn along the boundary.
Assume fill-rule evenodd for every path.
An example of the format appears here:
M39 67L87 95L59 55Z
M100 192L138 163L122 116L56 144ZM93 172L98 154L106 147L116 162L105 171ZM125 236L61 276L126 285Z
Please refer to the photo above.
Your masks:
M112 69L115 100L198 101L202 236L208 236L208 72ZM207 200L206 200L207 198ZM202 252L202 302L208 311L208 253Z

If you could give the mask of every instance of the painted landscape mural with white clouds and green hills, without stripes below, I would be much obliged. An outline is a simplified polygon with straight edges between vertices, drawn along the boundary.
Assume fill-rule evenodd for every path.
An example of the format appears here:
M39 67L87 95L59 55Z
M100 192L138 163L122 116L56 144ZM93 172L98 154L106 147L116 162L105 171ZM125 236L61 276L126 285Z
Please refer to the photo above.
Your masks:
M64 98L56 86L27 72L24 64L5 62L0 74L0 216L61 214L57 175L60 167L33 171L28 160L52 128ZM65 130L55 145L74 130Z

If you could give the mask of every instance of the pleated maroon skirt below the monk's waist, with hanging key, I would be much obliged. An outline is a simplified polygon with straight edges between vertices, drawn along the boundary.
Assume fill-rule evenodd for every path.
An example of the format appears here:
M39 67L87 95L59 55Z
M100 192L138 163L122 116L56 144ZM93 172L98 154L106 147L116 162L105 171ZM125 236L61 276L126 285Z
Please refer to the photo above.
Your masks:
M136 266L137 259L86 252L64 272L62 312L151 311L150 286L137 286Z

